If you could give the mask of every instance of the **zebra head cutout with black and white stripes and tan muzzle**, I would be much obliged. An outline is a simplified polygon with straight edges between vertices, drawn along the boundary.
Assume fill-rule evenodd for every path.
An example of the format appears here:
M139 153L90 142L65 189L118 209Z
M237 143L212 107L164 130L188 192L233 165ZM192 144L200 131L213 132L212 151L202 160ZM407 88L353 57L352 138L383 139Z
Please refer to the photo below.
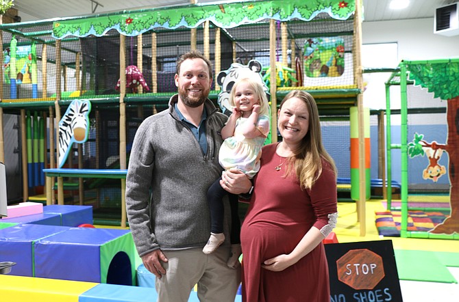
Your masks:
M73 100L59 122L59 167L64 165L73 142L84 143L89 133L89 100Z

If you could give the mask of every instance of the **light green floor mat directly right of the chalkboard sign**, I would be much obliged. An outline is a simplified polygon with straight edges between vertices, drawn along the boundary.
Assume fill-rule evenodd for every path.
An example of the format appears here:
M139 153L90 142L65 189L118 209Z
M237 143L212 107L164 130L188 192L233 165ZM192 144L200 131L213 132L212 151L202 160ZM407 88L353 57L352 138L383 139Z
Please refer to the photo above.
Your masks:
M399 279L458 283L434 251L395 250Z

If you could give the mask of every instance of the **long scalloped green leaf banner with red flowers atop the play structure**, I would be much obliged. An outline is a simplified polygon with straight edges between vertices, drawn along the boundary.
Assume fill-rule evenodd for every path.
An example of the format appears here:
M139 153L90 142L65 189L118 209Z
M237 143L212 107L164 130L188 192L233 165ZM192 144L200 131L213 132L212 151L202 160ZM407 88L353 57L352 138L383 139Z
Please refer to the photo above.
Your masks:
M94 35L100 37L110 29L116 29L125 36L138 36L158 27L164 29L195 28L206 20L221 28L256 23L266 18L279 21L297 18L309 21L321 12L338 20L346 20L354 11L355 0L271 0L195 4L99 14L88 16L88 18L64 18L53 23L53 37L57 39L66 36L82 38ZM132 18L132 23L126 23L129 18Z

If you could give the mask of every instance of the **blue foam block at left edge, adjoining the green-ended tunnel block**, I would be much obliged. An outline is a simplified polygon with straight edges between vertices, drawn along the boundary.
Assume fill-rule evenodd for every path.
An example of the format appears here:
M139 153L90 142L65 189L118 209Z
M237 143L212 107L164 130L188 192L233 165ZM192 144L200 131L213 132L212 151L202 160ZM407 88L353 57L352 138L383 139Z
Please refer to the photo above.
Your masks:
M12 261L10 275L34 276L33 245L36 241L64 230L55 225L20 224L0 230L0 262ZM1 298L3 299L3 298ZM21 301L21 300L20 300ZM26 300L23 300L26 301Z

